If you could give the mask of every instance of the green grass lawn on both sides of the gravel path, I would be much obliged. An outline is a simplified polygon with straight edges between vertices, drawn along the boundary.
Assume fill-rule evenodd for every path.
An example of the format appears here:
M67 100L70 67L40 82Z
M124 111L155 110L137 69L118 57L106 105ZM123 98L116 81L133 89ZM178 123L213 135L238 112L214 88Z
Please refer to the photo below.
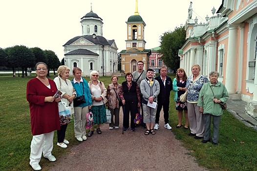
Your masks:
M173 74L170 75L172 78ZM0 75L0 171L31 170L29 166L30 129L29 106L26 100L26 84L33 77L16 77ZM54 79L54 76L49 77ZM89 81L89 78L86 78ZM107 85L110 77L100 77L100 81ZM119 83L125 81L119 77ZM199 165L211 171L257 171L257 131L246 127L230 113L224 112L221 117L219 143L203 144L188 136L190 130L175 128L177 125L177 111L171 92L170 124L176 139L180 140L188 153L196 158ZM183 120L184 122L184 120ZM185 123L185 122L184 122ZM69 147L79 144L74 138L73 124L69 124L66 138ZM57 143L55 132L54 145ZM53 154L58 157L69 153L70 148L54 148ZM54 163L41 159L44 170L48 170Z

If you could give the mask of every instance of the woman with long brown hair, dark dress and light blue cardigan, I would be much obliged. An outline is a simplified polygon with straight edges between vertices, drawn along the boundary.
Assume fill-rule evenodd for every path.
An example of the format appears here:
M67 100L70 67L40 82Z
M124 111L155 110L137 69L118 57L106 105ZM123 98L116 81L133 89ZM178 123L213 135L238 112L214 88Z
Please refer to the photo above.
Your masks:
M183 117L183 110L185 112L185 127L184 129L188 129L188 108L187 108L187 102L183 103L179 100L179 97L184 94L187 90L186 84L187 84L187 74L185 73L185 70L183 68L178 68L176 73L176 78L173 80L173 91L175 91L174 95L174 101L176 105L177 110L177 116L178 116L178 125L176 128L182 127L182 117Z

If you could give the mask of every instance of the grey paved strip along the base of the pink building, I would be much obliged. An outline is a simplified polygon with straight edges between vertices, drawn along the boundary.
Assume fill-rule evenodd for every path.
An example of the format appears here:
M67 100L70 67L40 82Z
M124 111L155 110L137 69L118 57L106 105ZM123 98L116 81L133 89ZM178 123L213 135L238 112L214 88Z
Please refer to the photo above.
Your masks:
M247 105L247 103L241 100L229 100L227 102L227 110L247 127L257 130L257 117L252 117L245 113L245 105Z

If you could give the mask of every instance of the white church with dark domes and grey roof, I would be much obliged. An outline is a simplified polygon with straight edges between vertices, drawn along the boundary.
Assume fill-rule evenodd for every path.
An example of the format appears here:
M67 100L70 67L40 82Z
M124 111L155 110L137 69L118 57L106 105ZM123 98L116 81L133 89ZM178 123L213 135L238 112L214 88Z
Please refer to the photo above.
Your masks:
M114 40L103 37L103 20L92 11L81 18L82 36L70 39L64 46L64 63L71 70L82 69L82 76L92 70L99 75L111 76L117 72L117 46ZM70 73L72 75L72 72Z

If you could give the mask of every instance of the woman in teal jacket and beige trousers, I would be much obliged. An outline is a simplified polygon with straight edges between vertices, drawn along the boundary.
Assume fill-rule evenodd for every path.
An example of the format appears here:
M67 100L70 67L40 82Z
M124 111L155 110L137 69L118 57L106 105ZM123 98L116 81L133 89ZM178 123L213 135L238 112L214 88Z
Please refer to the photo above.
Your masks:
M86 113L91 108L92 100L87 81L81 77L82 70L73 68L74 79L71 80L77 93L77 97L85 96L86 102L74 107L74 132L78 141L86 140Z

